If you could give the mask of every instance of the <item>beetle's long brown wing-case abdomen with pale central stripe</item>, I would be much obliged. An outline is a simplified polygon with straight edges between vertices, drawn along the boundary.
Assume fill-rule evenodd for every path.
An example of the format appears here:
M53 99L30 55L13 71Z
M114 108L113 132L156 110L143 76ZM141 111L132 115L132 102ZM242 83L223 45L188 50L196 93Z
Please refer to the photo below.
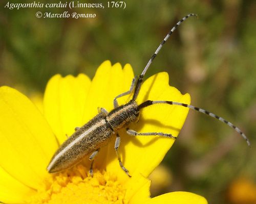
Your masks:
M47 170L50 173L65 170L108 143L114 132L105 118L105 114L100 113L80 127L55 152Z

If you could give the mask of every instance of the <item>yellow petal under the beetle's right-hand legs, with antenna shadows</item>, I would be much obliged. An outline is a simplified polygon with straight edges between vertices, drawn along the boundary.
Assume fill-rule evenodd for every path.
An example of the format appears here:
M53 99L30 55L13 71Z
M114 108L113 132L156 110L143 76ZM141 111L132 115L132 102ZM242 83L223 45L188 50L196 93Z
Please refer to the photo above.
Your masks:
M158 73L147 79L142 85L137 102L145 100L172 100L185 104L190 103L189 94L182 95L174 87L168 85L168 74ZM187 116L188 109L180 106L157 104L141 111L138 123L133 123L130 129L139 133L163 132L178 136ZM147 177L162 161L174 139L157 136L128 136L125 130L121 134L120 154L124 166L133 175L136 172ZM109 152L111 154L111 152ZM113 153L114 154L114 153ZM114 158L114 155L112 156ZM126 180L124 172L117 160L112 160L108 168L114 171L119 179Z

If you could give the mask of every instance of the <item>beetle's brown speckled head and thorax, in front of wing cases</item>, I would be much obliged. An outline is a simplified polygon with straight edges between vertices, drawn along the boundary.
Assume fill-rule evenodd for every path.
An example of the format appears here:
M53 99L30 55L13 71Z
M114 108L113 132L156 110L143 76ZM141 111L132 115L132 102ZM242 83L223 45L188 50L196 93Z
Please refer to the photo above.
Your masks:
M131 122L137 122L138 119L139 109L134 100L130 100L129 103L115 108L106 116L106 120L114 131L127 127Z

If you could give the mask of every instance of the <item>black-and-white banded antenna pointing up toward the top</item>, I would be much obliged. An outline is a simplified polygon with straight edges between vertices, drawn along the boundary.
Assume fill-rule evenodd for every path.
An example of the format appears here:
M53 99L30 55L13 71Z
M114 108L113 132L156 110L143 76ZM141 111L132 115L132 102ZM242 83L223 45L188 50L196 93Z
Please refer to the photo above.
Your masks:
M190 16L196 16L198 17L197 14L194 13L190 13L188 15L186 15L185 17L183 17L179 22L177 22L174 27L167 33L167 35L165 36L165 38L163 39L163 41L160 43L160 45L158 46L158 48L156 49L155 53L152 55L152 57L150 58L150 60L147 62L145 68L143 69L142 73L139 75L139 79L137 81L136 87L135 87L135 91L134 91L134 95L133 95L133 100L136 100L136 98L138 97L138 94L140 92L140 88L141 85L143 83L143 77L147 71L147 69L150 67L151 63L153 62L153 60L155 59L155 57L157 56L157 54L159 53L159 50L162 48L162 46L164 45L164 43L168 40L168 38L170 37L170 35L172 35L172 33L176 30L176 28L184 21L186 20L188 17Z

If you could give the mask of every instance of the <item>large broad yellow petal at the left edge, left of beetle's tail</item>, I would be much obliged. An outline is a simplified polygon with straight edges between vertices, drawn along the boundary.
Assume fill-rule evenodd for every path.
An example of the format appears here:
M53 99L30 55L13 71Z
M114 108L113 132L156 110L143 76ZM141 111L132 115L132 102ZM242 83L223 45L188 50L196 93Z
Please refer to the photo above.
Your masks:
M41 113L23 94L0 88L0 166L26 186L37 189L57 147Z

